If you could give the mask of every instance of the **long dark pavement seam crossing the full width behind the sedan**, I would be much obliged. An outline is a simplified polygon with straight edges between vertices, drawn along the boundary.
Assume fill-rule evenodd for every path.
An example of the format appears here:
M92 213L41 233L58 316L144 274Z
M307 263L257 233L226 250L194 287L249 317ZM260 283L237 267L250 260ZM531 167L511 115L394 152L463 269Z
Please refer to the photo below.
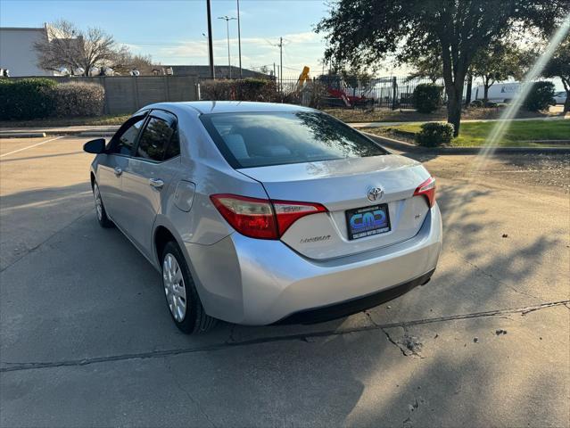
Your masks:
M417 319L412 321L402 321L399 323L388 323L388 324L376 324L373 322L373 325L364 325L361 327L353 327L348 328L342 331L336 330L329 330L323 332L314 332L314 333L296 333L296 334L286 334L283 336L271 336L265 337L260 339L252 339L249 341L242 341L242 342L221 342L212 345L206 345L202 347L195 347L195 348L179 348L175 350L153 350L148 352L138 352L138 353L130 353L130 354L120 354L120 355L112 355L108 357L93 357L93 358L83 358L83 359L70 359L70 360L62 360L62 361L49 361L49 362L32 362L32 363L14 363L8 361L2 361L0 364L9 365L9 366L2 366L0 367L0 373L5 372L14 372L14 371L21 371L21 370L35 370L35 369L43 369L43 368L54 368L54 367L64 367L64 366L87 366L90 364L97 364L97 363L106 363L112 361L124 361L128 359L147 359L147 358L163 358L163 357L170 357L182 354L192 354L195 352L207 352L207 351L215 351L215 350L228 350L235 347L243 347L243 346L252 346L252 345L259 345L271 342L287 342L287 341L302 341L302 342L310 342L309 338L316 338L316 337L326 337L326 336L341 336L344 334L350 333L359 333L359 332L368 332L368 331L376 331L382 330L386 328L393 328L393 327L408 327L411 325L426 325L426 324L433 324L433 323L442 323L446 321L453 321L458 319L469 319L469 318L479 318L479 317L500 317L506 314L521 314L521 316L525 316L525 314L529 312L533 312L539 309L547 309L553 308L557 306L564 306L567 308L566 305L570 304L570 300L559 300L559 301L551 301L548 303L541 303L540 305L532 305L532 306L525 306L522 308L510 308L510 309L496 309L496 310L488 310L484 312L473 312L470 314L459 314L459 315L450 315L447 317L434 317L434 318L423 318ZM368 312L365 312L368 316L368 319L371 319ZM386 334L384 332L384 334ZM392 341L391 341L392 342Z

